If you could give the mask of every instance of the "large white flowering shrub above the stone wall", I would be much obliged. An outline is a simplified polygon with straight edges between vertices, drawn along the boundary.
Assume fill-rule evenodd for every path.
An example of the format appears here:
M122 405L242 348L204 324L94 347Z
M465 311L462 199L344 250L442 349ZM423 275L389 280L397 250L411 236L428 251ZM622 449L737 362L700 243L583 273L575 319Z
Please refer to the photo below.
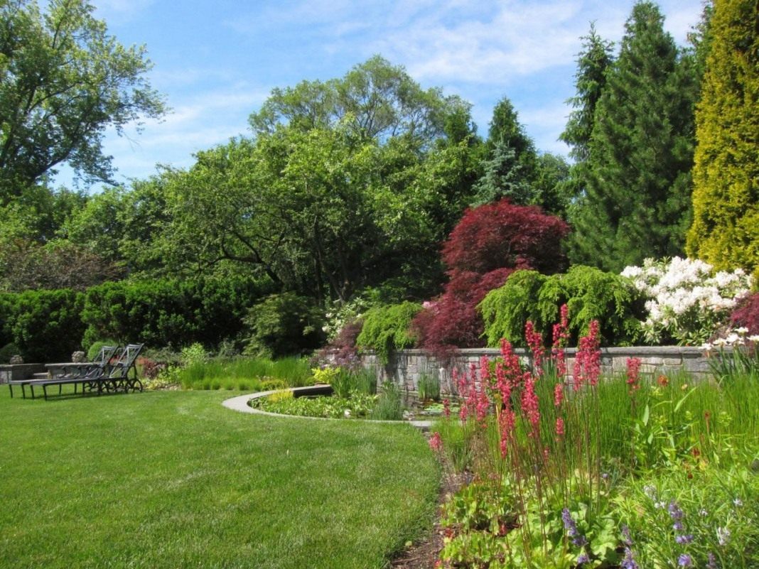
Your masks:
M625 268L622 276L648 298L643 330L652 344L704 344L751 289L751 275L742 269L715 273L706 262L680 257L646 259L642 267Z

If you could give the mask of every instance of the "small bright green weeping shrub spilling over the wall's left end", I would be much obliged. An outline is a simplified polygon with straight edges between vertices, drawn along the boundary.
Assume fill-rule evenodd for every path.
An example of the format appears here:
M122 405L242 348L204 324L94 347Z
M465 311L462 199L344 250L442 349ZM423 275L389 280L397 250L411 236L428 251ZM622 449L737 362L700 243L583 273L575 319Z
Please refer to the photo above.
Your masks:
M364 327L356 338L356 345L375 351L383 364L388 363L392 351L414 345L416 337L410 329L411 320L420 310L420 304L408 301L370 309L364 317Z

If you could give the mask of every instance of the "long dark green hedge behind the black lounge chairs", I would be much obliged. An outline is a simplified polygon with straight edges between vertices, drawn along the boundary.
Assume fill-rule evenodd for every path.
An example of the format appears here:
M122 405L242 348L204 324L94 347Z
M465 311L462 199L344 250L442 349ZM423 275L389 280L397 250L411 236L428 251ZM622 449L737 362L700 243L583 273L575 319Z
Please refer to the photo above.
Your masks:
M0 294L0 348L16 344L24 361L68 361L103 338L150 347L212 347L237 338L249 307L269 285L244 280L108 282Z

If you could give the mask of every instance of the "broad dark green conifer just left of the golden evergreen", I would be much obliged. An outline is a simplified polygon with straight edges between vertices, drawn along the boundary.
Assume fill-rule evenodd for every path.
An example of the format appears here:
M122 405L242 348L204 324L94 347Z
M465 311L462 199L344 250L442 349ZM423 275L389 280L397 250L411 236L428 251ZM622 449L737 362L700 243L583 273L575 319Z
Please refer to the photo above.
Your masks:
M618 271L682 253L697 85L657 5L638 2L595 110L573 261Z

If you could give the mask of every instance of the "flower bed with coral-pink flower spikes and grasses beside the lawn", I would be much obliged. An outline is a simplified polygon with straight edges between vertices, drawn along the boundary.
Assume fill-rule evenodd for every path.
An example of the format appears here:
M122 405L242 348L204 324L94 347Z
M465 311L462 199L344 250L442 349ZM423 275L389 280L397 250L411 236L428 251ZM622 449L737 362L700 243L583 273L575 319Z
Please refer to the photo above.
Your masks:
M430 446L472 483L443 511L442 567L759 566L759 390L752 373L601 381L597 325L565 362L502 344L455 373L458 415ZM572 377L572 381L568 381Z

